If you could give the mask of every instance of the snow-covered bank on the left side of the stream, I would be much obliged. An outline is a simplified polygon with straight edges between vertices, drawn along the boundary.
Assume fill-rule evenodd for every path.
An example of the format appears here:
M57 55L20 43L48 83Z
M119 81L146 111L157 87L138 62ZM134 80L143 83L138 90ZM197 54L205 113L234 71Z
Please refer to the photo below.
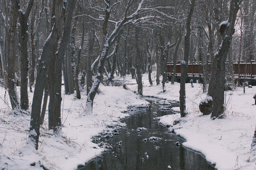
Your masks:
M123 113L127 107L149 104L122 87L101 85L100 90L101 93L94 99L92 114L87 115L83 112L87 98L85 92L82 92L81 100L75 99L73 94L64 95L62 136L53 136L47 130L46 115L40 129L39 148L35 151L33 147L26 145L30 115L11 114L6 104L9 99L6 97L4 101L5 91L0 88L0 97L3 99L0 99L1 170L42 170L42 166L51 170L73 170L104 150L92 143L92 136L111 131L111 127L125 126L120 119L129 116ZM29 93L29 101L32 98L33 93Z

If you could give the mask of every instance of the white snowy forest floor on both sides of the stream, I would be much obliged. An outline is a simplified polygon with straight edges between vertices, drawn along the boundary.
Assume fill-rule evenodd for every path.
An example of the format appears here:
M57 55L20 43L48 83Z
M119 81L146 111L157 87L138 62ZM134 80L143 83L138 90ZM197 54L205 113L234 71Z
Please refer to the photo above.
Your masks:
M122 78L120 78L121 80ZM28 113L13 114L9 109L9 95L0 88L0 168L1 170L42 170L44 166L51 170L73 170L93 157L101 154L103 148L92 143L92 137L100 133L111 135L114 128L123 127L120 120L128 117L127 107L146 107L149 103L133 93L137 91L136 81L126 77L129 90L120 87L100 85L93 112L84 114L86 92L77 100L74 94L63 95L62 135L55 136L48 131L46 119L41 127L38 151L27 145L30 123ZM143 95L168 101L179 100L180 84L162 84L150 86L147 75L143 76ZM64 88L63 88L64 89ZM18 91L19 93L19 91ZM192 88L186 84L186 107L188 116L173 126L180 114L159 118L159 122L168 125L177 135L186 139L183 146L202 153L206 160L222 169L256 170L256 153L251 152L252 137L256 126L256 105L253 94L256 86L225 92L225 119L210 119L201 116L199 103L206 96L201 84L194 83ZM32 102L33 93L29 93ZM179 108L173 108L179 111ZM31 164L33 166L31 166Z

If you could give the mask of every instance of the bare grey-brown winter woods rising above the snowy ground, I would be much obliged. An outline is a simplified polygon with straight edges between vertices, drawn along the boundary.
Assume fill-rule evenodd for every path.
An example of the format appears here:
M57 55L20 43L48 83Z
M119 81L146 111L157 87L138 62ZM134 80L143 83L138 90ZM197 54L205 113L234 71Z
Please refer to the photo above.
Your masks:
M65 95L91 115L100 86L122 80L131 90L128 76L139 97L145 75L163 95L178 81L180 117L187 117L188 64L195 62L207 95L197 103L200 114L225 119L226 87L245 93L246 71L254 69L255 27L255 0L0 0L0 84L11 113L29 116L27 143L36 150L45 120L49 132L63 135ZM252 141L255 151L255 132Z

